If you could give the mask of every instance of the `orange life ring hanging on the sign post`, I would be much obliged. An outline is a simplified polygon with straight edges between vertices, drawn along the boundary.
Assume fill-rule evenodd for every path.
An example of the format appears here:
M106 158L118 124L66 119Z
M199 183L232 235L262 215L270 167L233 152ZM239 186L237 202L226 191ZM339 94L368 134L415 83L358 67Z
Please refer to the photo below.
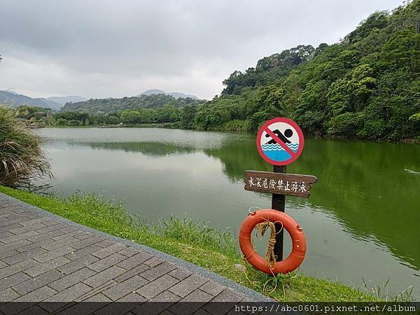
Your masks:
M276 262L274 269L269 269L264 258L258 255L251 244L251 233L253 228L255 228L255 225L258 223L267 220L273 223L281 222L283 228L290 234L293 243L290 255L288 255L285 260ZM272 209L258 210L246 217L241 225L241 230L239 231L239 246L241 246L241 251L244 253L246 260L248 260L253 267L267 274L278 274L279 272L287 274L288 272L292 272L299 267L304 260L304 254L306 253L307 248L302 228L300 228L296 221L284 212Z

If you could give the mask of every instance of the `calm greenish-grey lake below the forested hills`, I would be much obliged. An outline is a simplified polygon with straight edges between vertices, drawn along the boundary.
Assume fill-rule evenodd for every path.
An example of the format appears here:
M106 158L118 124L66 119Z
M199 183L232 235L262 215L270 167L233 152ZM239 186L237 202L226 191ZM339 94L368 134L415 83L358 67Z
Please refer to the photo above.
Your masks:
M38 132L55 174L52 190L59 193L97 192L149 221L174 214L236 236L250 207L271 206L270 195L244 190L246 169L272 170L255 148L255 135L158 128ZM305 139L287 171L318 177L308 199L286 197L286 213L307 238L302 272L353 286L390 279L390 291L414 285L420 300L419 145ZM284 255L289 252L287 239Z

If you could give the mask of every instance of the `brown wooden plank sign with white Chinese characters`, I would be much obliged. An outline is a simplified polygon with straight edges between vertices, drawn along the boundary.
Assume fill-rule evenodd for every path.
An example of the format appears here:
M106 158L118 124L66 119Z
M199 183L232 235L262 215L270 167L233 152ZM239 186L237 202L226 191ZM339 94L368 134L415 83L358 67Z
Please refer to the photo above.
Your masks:
M245 190L260 193L309 197L311 184L316 181L312 175L245 171Z

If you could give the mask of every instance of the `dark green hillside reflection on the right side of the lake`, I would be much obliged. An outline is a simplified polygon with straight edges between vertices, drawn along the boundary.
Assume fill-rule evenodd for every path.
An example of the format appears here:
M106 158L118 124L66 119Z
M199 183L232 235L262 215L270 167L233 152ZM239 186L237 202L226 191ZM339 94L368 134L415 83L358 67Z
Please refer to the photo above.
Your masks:
M235 142L205 152L220 158L230 179L241 181L244 169L269 171L255 148ZM309 200L296 204L332 211L355 237L372 235L409 265L420 268L420 146L307 139L288 172L318 177Z

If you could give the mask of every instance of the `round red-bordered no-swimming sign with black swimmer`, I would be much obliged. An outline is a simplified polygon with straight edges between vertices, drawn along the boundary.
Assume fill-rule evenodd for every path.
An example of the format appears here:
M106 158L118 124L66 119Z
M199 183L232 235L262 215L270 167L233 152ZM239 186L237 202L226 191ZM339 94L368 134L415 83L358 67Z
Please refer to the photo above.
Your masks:
M303 150L303 133L288 118L268 120L257 135L257 148L262 158L272 165L288 165Z

